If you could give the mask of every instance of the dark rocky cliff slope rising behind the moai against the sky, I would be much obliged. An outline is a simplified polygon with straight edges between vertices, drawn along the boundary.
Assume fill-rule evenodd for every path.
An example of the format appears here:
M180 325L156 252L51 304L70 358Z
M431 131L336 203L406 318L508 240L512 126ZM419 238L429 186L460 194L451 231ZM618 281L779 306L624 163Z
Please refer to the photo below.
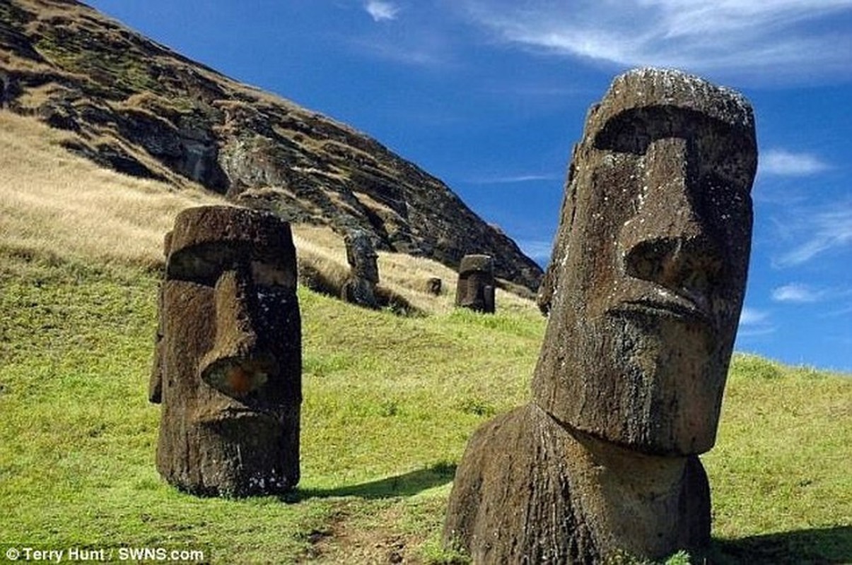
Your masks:
M0 106L127 174L198 183L294 222L534 290L541 270L440 180L342 123L237 83L74 0L0 3Z

